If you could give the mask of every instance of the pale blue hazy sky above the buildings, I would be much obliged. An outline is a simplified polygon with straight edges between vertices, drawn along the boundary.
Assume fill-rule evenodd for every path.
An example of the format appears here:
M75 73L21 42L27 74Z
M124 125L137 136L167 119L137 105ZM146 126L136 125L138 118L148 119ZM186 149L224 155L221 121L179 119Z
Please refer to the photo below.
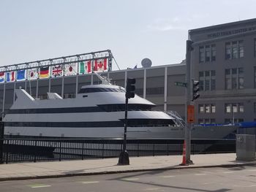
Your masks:
M255 7L255 0L0 0L0 66L108 49L120 69L141 67L143 58L178 64L189 29L256 18Z

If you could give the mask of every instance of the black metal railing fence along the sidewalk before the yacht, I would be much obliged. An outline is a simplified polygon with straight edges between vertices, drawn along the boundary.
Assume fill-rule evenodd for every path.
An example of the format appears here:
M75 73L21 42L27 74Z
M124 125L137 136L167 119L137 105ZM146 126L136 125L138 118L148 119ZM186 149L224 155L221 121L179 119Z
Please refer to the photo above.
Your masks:
M0 139L0 161L62 161L118 157L123 139ZM235 152L236 141L192 140L191 153ZM1 148L1 146L0 146ZM182 154L181 139L127 139L129 156Z

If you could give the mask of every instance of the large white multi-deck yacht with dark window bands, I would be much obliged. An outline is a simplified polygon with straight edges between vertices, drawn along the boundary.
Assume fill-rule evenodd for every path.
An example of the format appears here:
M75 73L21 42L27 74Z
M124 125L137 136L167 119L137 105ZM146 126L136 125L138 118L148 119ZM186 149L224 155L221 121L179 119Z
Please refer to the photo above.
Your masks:
M15 90L15 102L4 116L4 134L19 137L123 138L125 89L111 85L85 85L74 99L48 93L48 99L34 99L23 89ZM184 126L155 104L135 95L128 105L128 139L183 139ZM192 139L221 139L234 126L198 126Z

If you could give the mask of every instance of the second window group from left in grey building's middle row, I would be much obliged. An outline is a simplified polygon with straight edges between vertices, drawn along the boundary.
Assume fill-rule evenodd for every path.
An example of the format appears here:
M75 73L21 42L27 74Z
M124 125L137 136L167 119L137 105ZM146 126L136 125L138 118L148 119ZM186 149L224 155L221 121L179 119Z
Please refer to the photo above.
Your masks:
M243 89L244 88L244 69L234 68L225 69L225 89Z

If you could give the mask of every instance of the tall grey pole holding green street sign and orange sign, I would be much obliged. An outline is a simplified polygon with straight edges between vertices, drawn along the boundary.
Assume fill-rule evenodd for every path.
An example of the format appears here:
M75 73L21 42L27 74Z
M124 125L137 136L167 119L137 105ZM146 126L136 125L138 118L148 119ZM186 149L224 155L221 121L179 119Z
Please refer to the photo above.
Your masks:
M187 115L187 108L191 104L191 51L192 51L192 41L187 40L187 50L186 50L186 82L187 82L187 88L186 88L186 112L185 112L185 118L186 118L186 127L185 127L185 142L186 142L186 164L193 164L193 162L190 159L190 153L191 153L191 123L188 123L188 115Z

